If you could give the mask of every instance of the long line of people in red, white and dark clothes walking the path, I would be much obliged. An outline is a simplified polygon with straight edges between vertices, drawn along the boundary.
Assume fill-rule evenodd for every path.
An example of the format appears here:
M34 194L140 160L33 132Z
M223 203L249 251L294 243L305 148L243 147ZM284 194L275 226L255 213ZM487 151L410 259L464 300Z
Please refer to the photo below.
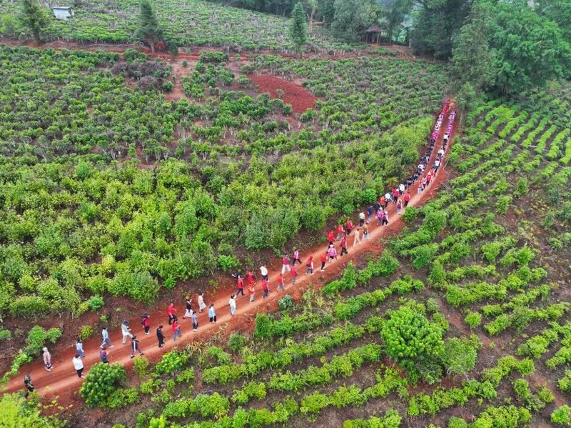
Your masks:
M340 222L335 227L335 229L330 229L328 232L326 232L325 235L328 242L328 248L320 255L320 272L325 270L328 263L335 262L338 257L343 257L344 254L348 254L348 240L350 237L353 237L353 248L357 247L361 242L370 239L370 223L373 221L373 217L375 217L375 221L378 227L387 226L389 224L388 206L390 204L395 204L397 215L400 215L403 213L403 210L408 206L410 202L412 197L410 195L410 189L413 189L413 186L417 186L418 194L422 193L426 187L430 186L431 181L433 181L434 177L438 173L440 165L443 162L443 156L446 152L448 140L450 139L450 135L453 131L456 114L455 111L451 111L450 115L448 116L448 124L443 136L442 146L440 146L440 149L435 156L434 163L429 167L428 164L432 158L436 140L438 139L438 135L440 133L440 128L443 124L446 114L448 113L449 108L450 101L447 101L445 106L443 106L440 115L438 116L438 120L436 121L436 124L433 128L433 132L430 134L430 141L428 143L425 154L420 158L420 164L418 164L415 172L411 174L408 179L403 181L399 186L395 186L390 189L390 191L387 191L385 194L381 195L379 199L375 201L374 204L369 205L365 211L361 211L358 214L358 225L353 224L353 221L348 218L345 219L344 222ZM338 248L335 247L335 242L338 242ZM286 253L282 255L281 271L279 272L278 279L276 281L276 291L279 292L284 290L286 282L289 282L292 286L295 286L295 281L299 276L298 268L295 266L296 263L298 263L300 266L303 266L303 262L300 259L300 250L298 248L294 249L291 257ZM271 292L268 269L265 265L263 265L259 268L259 271L261 278L261 289L263 292L262 298L266 299ZM313 274L315 274L315 262L313 260L313 256L309 256L305 261L305 275ZM231 297L228 300L228 307L230 309L231 317L234 317L236 315L238 297L242 295L243 297L248 298L249 302L253 302L256 299L256 290L259 288L259 286L258 277L254 273L253 269L249 269L245 277L239 273L233 274L232 276L234 279L236 279L236 292L231 294ZM288 277L289 279L286 280ZM244 290L246 290L247 295ZM198 332L198 314L202 314L207 307L209 322L216 323L217 317L214 304L210 303L207 306L206 302L204 301L203 292L198 293L196 305L194 304L194 301L190 295L186 296L184 304L185 312L182 318L188 318L191 320L193 332ZM166 309L166 315L168 325L171 327L173 341L176 341L179 337L181 337L182 332L181 322L178 320L175 302L171 302L168 305ZM141 327L143 334L149 334L151 324L148 312L141 314ZM127 320L123 320L121 323L121 334L123 337L123 345L126 345L127 340L130 339L129 346L131 348L131 358L134 358L137 353L139 355L144 355L144 352L140 346L141 342L139 339L137 339L136 334L133 334L131 326ZM101 338L103 341L100 345L99 357L101 362L108 364L108 349L113 348L113 344L109 338L107 326L103 326L101 330ZM158 324L158 327L156 328L156 338L158 347L162 348L166 340L165 334L163 333L163 324ZM76 354L72 359L72 364L76 370L77 376L81 378L83 377L84 371L84 364L82 361L84 358L84 347L81 339L78 338L76 340L74 347L76 349ZM43 359L46 370L50 372L52 369L51 354L46 347L44 347ZM26 376L24 377L24 387L26 387L28 392L34 391L34 383L31 380L29 372L26 373ZM26 397L28 392L26 392Z

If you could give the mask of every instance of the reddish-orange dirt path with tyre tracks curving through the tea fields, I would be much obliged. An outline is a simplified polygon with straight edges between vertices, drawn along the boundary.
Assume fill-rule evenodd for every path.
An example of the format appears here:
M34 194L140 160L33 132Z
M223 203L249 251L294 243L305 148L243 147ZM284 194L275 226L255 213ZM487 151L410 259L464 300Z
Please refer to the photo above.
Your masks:
M445 123L445 122L444 122ZM429 166L433 163L436 152L438 151L438 144L442 139L442 134L444 132L445 126L440 130L440 136L436 144L435 150L433 150L433 157L430 159ZM452 140L452 139L451 139ZM448 150L450 150L451 144L448 144ZM446 171L445 166L442 166L438 175L430 184L428 189L425 189L422 194L417 194L415 191L415 186L413 186L414 191L411 191L410 206L420 206L425 204L431 198L433 198L435 191L438 189L440 184L445 181L448 176L448 171ZM277 307L278 299L283 297L285 294L293 294L294 298L299 298L301 293L309 286L320 288L326 282L335 278L342 272L344 267L350 260L358 259L358 257L370 251L380 251L383 244L379 242L381 237L387 237L389 235L398 234L404 226L403 220L396 214L395 204L390 204L389 206L389 219L390 222L388 226L377 227L375 225L374 219L370 224L370 239L367 242L363 242L353 249L353 237L349 237L349 254L344 257L339 257L334 262L328 264L325 272L319 272L320 267L320 256L327 249L327 244L319 245L308 249L301 254L301 259L303 262L308 259L310 255L313 255L315 260L315 275L305 275L305 265L300 267L300 277L298 277L297 284L295 287L290 283L289 278L286 278L287 285L285 291L276 292L276 284L278 281L279 272L274 270L269 272L269 283L271 287L271 294L267 299L262 299L261 297L261 285L258 283L258 289L256 290L256 300L252 303L248 303L248 297L238 297L236 311L236 316L231 317L228 308L228 299L230 294L232 294L233 289L221 289L215 295L205 295L205 302L207 305L214 303L216 308L216 314L218 316L218 323L211 324L208 322L208 314L203 312L198 315L199 328L198 332L192 332L191 322L187 319L182 319L184 314L183 304L181 302L176 302L176 309L181 321L181 331L182 337L176 342L172 340L171 329L166 322L166 308L158 312L152 312L150 314L151 321L151 332L146 335L143 333L143 329L140 324L140 319L131 319L130 325L133 329L133 333L137 335L138 339L141 340L141 349L145 352L146 357L151 361L157 361L161 358L162 354L170 351L171 349L182 348L186 344L199 342L203 339L208 339L215 334L220 332L231 332L235 330L247 330L253 328L253 319L257 312L268 312L275 310ZM256 272L259 274L259 272ZM166 343L162 349L158 349L155 330L158 324L163 324L163 332L166 335ZM85 357L84 357L84 375L89 373L89 368L99 362L99 344L101 344L101 326L97 325L96 336L87 339L84 342ZM110 332L111 342L114 347L108 349L108 359L111 363L120 363L123 366L130 368L132 366L132 360L130 355L129 343L121 344L121 331L120 329L114 329ZM41 362L41 357L37 358L35 362L31 364L26 364L20 369L20 374L13 379L8 384L7 390L9 392L14 392L16 390L22 389L22 374L26 372L31 372L31 378L34 380L36 386L36 391L44 397L59 397L59 404L66 406L73 404L76 400L79 400L78 389L83 382L83 379L79 379L76 375L73 365L71 364L71 359L74 357L75 349L74 347L69 347L68 350L56 349L52 353L53 369L51 372L46 372L43 362ZM79 404L79 403L78 403Z

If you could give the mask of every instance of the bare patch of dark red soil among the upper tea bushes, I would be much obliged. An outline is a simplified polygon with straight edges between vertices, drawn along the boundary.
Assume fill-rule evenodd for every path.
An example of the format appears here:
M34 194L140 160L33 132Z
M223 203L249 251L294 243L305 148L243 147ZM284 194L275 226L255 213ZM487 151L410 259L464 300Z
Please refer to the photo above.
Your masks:
M260 92L268 92L272 98L281 98L291 104L295 113L303 113L315 107L315 96L303 86L270 74L252 74L248 78L258 85ZM283 91L283 95L278 95L278 89Z

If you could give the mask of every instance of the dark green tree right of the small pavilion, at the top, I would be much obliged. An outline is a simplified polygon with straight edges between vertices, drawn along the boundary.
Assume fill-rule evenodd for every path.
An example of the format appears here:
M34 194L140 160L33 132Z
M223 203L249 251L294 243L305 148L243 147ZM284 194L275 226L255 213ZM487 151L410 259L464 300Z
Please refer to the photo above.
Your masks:
M417 0L417 3L420 11L411 34L415 53L449 59L453 40L470 12L471 0Z

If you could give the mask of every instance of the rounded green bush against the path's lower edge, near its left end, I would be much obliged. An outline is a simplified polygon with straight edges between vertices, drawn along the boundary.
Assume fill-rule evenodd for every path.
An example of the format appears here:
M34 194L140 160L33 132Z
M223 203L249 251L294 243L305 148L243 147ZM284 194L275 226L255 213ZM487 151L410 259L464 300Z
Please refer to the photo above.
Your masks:
M126 372L121 364L96 363L89 370L79 393L87 407L102 407L125 379Z

